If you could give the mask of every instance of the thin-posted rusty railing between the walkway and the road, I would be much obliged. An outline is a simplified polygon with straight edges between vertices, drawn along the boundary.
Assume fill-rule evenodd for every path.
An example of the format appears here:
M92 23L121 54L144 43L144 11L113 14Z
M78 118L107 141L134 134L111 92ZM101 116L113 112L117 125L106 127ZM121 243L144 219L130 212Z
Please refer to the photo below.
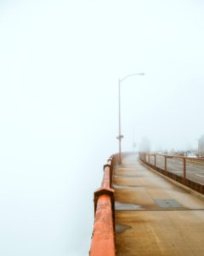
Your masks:
M139 160L157 172L204 194L204 184L200 179L204 178L204 158L140 152Z

